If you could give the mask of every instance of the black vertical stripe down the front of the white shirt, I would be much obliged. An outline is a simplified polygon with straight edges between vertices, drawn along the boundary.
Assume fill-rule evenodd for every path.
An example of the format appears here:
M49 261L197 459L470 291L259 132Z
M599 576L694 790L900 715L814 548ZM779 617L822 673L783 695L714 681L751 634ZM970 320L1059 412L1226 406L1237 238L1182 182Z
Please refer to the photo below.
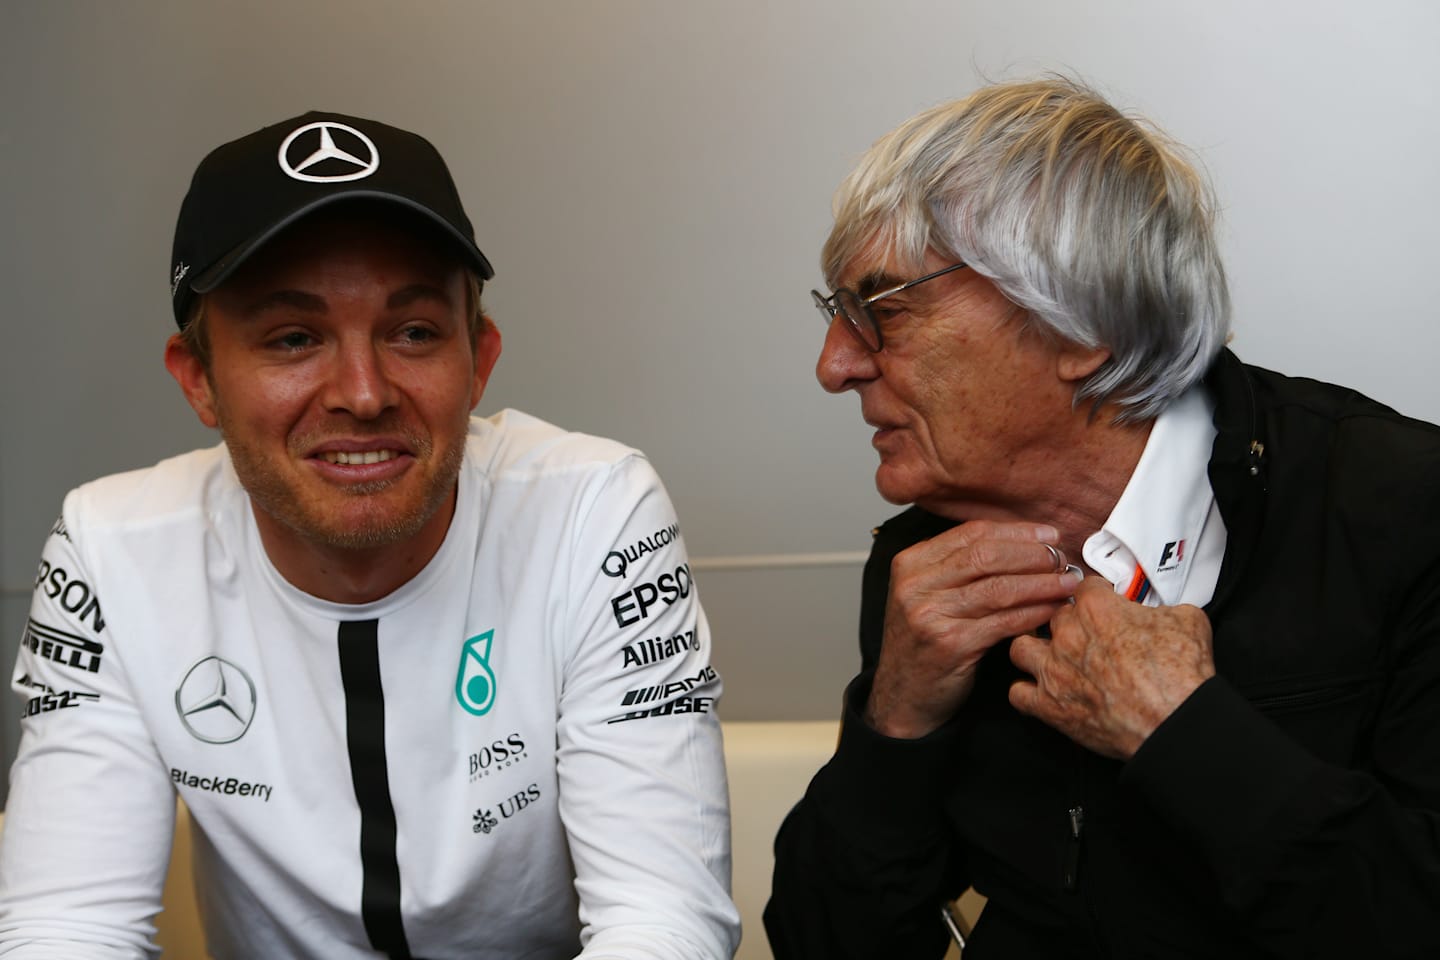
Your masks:
M340 681L346 691L350 780L360 805L360 915L370 946L410 960L400 918L400 864L395 855L395 803L384 759L384 691L380 688L379 620L340 625Z

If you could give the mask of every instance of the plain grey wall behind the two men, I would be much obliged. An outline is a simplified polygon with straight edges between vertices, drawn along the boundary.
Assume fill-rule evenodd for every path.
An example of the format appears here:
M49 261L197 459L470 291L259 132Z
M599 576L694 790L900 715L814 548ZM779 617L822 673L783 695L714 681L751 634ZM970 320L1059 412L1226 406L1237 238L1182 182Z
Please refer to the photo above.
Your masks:
M482 412L648 450L724 715L824 718L894 512L812 377L860 153L981 78L1077 73L1208 166L1243 357L1440 419L1437 42L1430 0L0 0L0 662L63 492L212 442L160 354L173 217L223 140L324 108L436 142L497 268Z

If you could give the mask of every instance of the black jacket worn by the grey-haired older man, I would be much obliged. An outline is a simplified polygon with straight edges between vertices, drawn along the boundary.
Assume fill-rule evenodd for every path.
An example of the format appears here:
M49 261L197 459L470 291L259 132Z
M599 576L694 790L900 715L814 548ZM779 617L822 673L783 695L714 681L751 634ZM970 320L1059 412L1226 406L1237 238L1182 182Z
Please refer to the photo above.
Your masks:
M952 525L893 518L840 746L776 839L778 960L939 957L968 885L966 960L1440 957L1440 427L1228 351L1207 386L1218 675L1128 763L1018 714L1008 645L949 724L881 737L890 560Z

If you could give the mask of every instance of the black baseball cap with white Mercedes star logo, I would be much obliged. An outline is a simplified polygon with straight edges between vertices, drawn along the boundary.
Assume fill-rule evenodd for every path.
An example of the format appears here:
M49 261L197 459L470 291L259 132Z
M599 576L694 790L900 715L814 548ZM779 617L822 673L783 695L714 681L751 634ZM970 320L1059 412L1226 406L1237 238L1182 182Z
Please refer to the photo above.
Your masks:
M373 119L308 112L216 147L180 204L170 299L183 330L196 294L228 278L291 223L338 200L383 200L422 214L481 279L495 275L439 151Z

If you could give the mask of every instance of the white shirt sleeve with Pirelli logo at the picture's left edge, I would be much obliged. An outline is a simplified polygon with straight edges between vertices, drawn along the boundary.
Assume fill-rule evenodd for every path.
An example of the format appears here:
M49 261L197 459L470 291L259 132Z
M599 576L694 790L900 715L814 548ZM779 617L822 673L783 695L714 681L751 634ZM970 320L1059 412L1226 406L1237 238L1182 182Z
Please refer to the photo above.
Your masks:
M45 544L12 676L19 756L0 838L0 957L150 957L174 792L135 710L73 522ZM134 638L131 638L134 639ZM16 701L12 701L16 702Z

